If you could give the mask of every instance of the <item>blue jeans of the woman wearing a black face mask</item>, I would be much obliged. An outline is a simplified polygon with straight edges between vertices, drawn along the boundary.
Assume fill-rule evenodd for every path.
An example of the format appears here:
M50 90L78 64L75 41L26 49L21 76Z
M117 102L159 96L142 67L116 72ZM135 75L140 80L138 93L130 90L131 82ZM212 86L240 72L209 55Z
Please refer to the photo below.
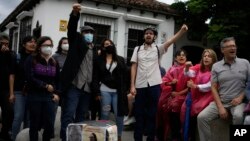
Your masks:
M117 116L117 105L118 105L118 94L116 92L104 92L101 91L102 99L101 99L101 119L108 120L111 105L114 110L115 118L116 118L116 125L118 128L118 136L122 135L123 130L123 116Z

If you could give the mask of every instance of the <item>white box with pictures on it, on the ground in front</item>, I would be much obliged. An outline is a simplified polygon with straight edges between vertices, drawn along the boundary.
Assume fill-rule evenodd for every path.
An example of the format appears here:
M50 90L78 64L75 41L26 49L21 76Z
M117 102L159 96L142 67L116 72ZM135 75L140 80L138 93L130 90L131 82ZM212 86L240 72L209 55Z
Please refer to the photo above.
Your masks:
M67 127L67 141L117 141L117 126L113 121L98 120L71 123Z

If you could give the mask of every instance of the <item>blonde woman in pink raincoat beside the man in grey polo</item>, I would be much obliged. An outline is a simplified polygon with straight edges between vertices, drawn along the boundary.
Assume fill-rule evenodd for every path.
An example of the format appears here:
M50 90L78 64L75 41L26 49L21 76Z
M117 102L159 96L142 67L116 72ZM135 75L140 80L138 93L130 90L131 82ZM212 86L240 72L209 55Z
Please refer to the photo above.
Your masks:
M192 66L192 62L186 62L184 74L190 78L187 86L191 91L192 105L190 112L189 135L191 140L195 140L198 114L213 101L211 92L211 69L217 61L217 55L212 49L205 49L202 53L200 64ZM192 67L191 67L192 66ZM181 121L184 123L186 113L186 103L181 108Z

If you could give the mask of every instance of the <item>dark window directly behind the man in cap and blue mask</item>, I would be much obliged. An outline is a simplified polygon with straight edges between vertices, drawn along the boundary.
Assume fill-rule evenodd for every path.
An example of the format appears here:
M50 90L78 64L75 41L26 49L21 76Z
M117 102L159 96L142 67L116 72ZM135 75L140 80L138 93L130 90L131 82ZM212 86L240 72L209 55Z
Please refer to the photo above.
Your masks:
M95 46L100 47L103 39L110 38L111 27L109 25L95 24L89 22L85 22L85 25L89 25L95 29Z

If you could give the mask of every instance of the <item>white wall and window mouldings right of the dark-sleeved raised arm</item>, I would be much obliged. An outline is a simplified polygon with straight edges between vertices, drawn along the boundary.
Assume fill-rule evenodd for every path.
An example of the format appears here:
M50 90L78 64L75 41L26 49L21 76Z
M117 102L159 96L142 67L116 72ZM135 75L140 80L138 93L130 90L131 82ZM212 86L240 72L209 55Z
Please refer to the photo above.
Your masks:
M100 4L98 7L95 6L95 3L87 1L82 3L82 5L90 8L95 8L98 10L110 10L113 12L123 13L123 15L120 15L119 17L116 17L112 14L105 14L107 17L115 17L115 27L114 27L114 36L111 40L114 41L114 43L117 46L117 53L121 56L127 55L127 36L128 36L128 22L141 22L145 25L156 25L158 28L159 36L157 39L157 43L161 44L163 41L166 41L166 39L163 39L162 34L165 33L166 38L170 38L174 34L174 19L166 19L165 15L158 14L157 17L153 16L152 12L145 12L143 14L140 13L139 10L132 9L130 12L127 11L126 8L118 7L117 9L113 9L111 5L107 4ZM82 10L83 13L90 14L88 12L84 12L84 9ZM97 12L93 12L97 13ZM93 14L92 13L92 14ZM104 14L104 13L103 13ZM84 16L84 14L82 15ZM134 17L133 17L134 16ZM84 21L82 22L84 23ZM111 27L112 28L112 27ZM142 37L143 38L143 37ZM172 59L173 57L173 45L169 47L168 52L162 57L161 59L161 65L168 69L170 66L172 66Z

